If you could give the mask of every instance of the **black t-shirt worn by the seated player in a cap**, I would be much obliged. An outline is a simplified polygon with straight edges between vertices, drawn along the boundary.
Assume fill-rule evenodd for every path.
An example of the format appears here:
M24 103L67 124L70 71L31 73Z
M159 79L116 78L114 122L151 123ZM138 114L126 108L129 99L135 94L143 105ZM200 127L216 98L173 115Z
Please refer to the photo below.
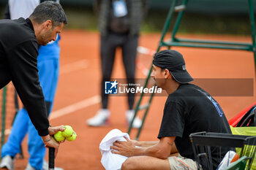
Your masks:
M181 84L167 98L158 139L176 136L180 155L195 160L189 134L200 131L231 134L217 101L197 85Z

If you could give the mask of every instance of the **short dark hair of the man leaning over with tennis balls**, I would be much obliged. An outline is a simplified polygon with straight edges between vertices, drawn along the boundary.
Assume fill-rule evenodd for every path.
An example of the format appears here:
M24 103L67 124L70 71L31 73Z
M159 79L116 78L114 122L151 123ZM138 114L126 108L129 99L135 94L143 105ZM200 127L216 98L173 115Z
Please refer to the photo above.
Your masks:
M67 24L64 9L61 4L54 1L44 1L39 4L29 18L39 24L51 20L53 27L61 26L61 23Z

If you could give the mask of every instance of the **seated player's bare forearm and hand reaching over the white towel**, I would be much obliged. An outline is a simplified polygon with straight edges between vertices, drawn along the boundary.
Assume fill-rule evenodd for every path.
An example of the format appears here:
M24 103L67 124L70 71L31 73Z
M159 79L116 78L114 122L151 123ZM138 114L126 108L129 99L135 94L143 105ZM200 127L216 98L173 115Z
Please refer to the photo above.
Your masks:
M135 144L127 139L127 142L114 142L110 148L113 149L113 153L127 157L148 155L155 158L167 159L171 153L175 138L175 136L163 137L157 144L151 147L135 147Z

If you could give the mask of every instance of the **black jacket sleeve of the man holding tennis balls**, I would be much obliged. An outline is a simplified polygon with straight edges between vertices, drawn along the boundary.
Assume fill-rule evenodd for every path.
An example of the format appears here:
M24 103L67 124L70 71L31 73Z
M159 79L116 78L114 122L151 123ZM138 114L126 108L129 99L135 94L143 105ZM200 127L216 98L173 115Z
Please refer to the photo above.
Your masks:
M39 84L37 42L22 42L7 51L12 82L39 136L48 135L48 114Z

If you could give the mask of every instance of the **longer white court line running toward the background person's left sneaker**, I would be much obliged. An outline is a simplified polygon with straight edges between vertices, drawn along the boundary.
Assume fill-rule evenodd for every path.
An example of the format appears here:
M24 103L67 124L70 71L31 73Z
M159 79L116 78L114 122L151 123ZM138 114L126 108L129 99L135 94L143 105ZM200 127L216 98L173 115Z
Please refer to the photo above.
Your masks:
M62 109L58 109L58 110L56 110L54 112L51 112L49 120L53 120L55 118L58 118L58 117L67 115L69 113L78 111L79 109L84 109L86 107L91 107L94 104L98 104L100 101L101 101L101 98L100 98L99 95L92 96L91 98L86 98L83 101L79 101L78 103L71 104L71 105L69 105L67 107L64 107ZM9 135L10 133L11 133L11 129L10 128L7 128L4 131L4 135ZM1 137L1 132L0 132L0 137Z

